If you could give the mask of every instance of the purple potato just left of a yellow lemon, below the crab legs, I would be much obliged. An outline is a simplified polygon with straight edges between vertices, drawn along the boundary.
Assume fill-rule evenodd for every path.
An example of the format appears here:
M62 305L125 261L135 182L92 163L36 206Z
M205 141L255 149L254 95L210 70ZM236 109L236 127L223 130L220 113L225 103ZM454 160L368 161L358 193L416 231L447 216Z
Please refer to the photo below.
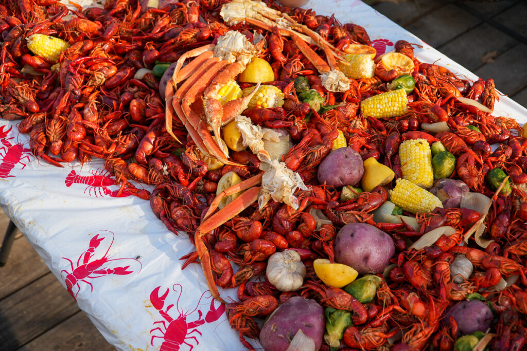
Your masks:
M327 155L318 167L320 184L341 187L356 185L364 174L362 157L351 147L341 147Z

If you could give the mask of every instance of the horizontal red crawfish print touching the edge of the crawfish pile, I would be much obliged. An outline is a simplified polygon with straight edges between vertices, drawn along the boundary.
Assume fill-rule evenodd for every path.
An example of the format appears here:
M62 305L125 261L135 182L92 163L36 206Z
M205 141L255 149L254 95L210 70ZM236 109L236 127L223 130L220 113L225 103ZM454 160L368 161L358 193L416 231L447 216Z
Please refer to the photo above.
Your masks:
M88 195L95 197L111 196L111 197L125 197L130 196L130 192L127 190L121 190L119 185L115 184L115 179L110 177L110 173L104 169L96 169L92 171L91 175L82 176L77 174L74 170L71 171L64 180L67 187L73 184L87 185L84 189L84 194L88 192ZM111 190L109 187L115 186L115 190Z

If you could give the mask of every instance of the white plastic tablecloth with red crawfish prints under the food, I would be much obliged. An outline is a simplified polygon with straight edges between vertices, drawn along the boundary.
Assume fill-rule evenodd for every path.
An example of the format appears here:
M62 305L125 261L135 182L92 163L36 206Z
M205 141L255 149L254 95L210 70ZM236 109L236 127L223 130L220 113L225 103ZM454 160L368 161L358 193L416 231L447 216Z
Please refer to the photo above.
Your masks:
M364 26L378 54L405 39L423 45L415 50L422 62L477 79L359 0L311 0L308 6ZM527 121L527 110L505 96L494 115ZM106 340L120 350L156 350L170 342L180 350L243 349L224 307L211 298L201 266L181 270L179 258L194 250L188 237L169 232L148 201L113 197L119 187L103 161L57 168L35 159L17 123L0 119L0 205L62 285L71 286ZM152 293L166 294L164 304L154 307ZM221 295L235 297L235 290Z

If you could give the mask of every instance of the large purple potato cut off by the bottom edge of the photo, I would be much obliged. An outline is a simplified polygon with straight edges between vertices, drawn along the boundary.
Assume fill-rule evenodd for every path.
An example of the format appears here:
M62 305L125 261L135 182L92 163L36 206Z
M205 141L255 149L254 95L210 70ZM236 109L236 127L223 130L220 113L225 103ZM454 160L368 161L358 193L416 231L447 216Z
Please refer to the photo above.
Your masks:
M315 349L322 345L326 330L324 308L315 300L294 296L278 306L260 332L265 351L285 351L299 329L313 339Z

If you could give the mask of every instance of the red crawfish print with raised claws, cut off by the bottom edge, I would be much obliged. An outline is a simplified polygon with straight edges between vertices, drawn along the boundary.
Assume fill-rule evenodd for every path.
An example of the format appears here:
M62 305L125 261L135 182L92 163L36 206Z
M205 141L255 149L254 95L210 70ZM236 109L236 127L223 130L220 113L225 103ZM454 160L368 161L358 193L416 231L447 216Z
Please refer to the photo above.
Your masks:
M216 308L216 306L214 306L214 302L216 302L216 300L214 300L211 295L210 297L207 297L210 298L209 311L205 315L204 319L201 318L203 316L203 313L201 312L201 310L198 309L198 307L200 305L201 299L203 298L203 295L205 295L206 293L210 293L209 290L201 294L196 308L194 308L193 310L189 309L187 312L183 313L183 309L179 307L179 299L181 298L181 295L183 293L183 287L181 286L181 284L174 284L172 286L174 292L178 291L175 289L176 286L178 286L181 290L179 292L178 299L175 302L175 309L177 310L177 317L175 318L169 315L169 310L174 307L174 304L171 304L167 306L166 309L163 309L165 299L168 297L170 289L167 288L167 291L163 295L159 296L159 289L161 288L161 286L158 286L157 288L152 290L152 293L150 293L150 302L152 303L152 306L159 311L159 314L164 319L158 322L154 322L154 325L162 324L164 330L160 326L150 330L150 333L153 334L150 342L152 346L154 346L154 339L163 339L163 342L161 343L159 349L160 351L179 350L182 344L187 345L189 347L189 351L192 350L194 346L197 346L199 344L198 336L201 337L201 332L197 329L197 327L205 323L215 322L225 313L225 305L220 304L219 307ZM193 322L188 322L187 317L193 315L196 310L198 311L198 318ZM168 322L168 325L165 321ZM190 336L191 334L194 335ZM188 340L190 342L190 339L193 339L196 342L196 345L192 345L185 341Z

